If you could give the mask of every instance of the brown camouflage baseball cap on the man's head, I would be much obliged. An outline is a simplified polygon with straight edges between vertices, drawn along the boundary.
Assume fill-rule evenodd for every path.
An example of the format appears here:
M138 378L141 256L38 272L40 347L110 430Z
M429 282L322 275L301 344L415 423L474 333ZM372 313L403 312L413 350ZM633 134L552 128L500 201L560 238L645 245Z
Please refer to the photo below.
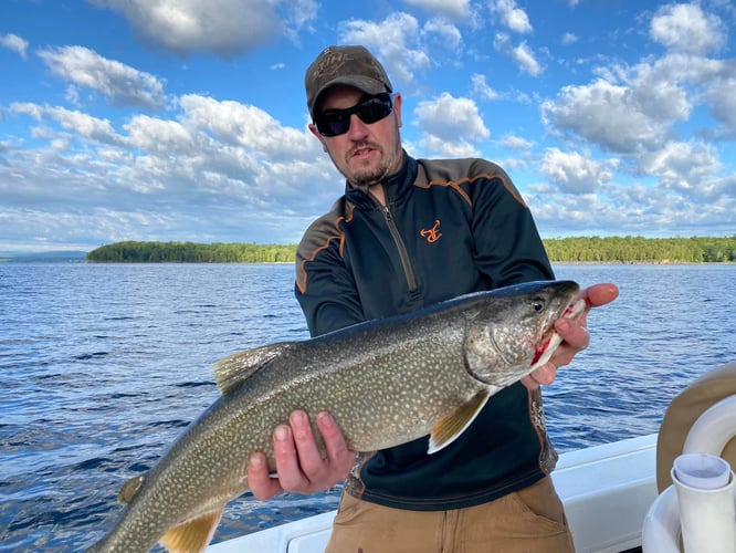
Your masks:
M354 86L368 94L393 92L383 66L364 46L327 46L304 75L312 119L322 93L336 84Z

